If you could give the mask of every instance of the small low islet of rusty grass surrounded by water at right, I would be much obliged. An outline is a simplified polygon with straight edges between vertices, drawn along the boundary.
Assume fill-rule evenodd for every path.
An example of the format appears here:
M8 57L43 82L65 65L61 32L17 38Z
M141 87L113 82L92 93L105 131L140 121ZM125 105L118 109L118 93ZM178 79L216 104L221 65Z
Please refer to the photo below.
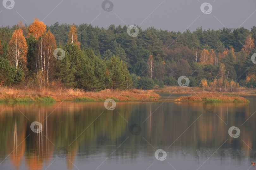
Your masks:
M219 94L194 94L191 96L181 96L174 101L206 101L214 103L247 103L247 99L236 95Z

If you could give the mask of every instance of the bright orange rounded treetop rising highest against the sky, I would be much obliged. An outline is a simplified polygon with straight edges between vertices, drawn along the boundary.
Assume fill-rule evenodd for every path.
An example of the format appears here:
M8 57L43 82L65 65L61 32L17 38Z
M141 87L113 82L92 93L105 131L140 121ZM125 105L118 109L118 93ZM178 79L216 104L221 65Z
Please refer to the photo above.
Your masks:
M37 18L35 18L34 22L28 26L27 30L28 36L32 34L34 35L34 37L36 37L36 39L38 39L39 37L42 37L45 33L46 25L43 23L43 21L40 21Z

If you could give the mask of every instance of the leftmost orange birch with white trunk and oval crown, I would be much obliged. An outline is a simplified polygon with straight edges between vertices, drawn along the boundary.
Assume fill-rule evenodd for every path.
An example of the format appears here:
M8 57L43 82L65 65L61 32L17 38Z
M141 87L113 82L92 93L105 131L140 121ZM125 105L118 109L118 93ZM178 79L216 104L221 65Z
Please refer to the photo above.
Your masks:
M9 42L7 58L11 65L23 69L27 65L27 42L21 28L16 29Z

